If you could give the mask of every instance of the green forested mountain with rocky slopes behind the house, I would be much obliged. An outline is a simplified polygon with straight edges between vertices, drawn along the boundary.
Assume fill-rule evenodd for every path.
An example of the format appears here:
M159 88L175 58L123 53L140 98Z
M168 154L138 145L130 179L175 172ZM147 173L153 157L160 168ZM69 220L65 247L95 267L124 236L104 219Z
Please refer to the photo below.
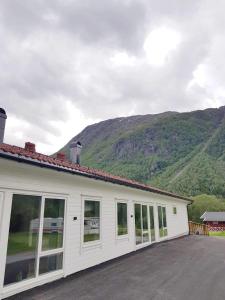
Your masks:
M85 166L186 196L225 197L225 106L106 120L75 138ZM67 156L70 142L60 150Z

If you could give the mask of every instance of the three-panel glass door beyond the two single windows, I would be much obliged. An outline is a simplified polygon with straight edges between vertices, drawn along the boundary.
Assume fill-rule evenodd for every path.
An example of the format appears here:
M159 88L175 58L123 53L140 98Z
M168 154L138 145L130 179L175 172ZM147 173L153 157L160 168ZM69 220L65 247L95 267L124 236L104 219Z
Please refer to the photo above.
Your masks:
M155 241L154 208L147 204L134 204L136 245Z

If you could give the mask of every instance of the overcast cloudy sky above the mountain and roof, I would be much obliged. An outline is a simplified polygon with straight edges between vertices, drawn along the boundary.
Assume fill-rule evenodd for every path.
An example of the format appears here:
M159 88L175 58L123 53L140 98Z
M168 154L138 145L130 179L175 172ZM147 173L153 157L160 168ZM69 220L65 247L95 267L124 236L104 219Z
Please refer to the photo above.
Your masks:
M225 105L224 0L1 0L5 142L52 153L100 120Z

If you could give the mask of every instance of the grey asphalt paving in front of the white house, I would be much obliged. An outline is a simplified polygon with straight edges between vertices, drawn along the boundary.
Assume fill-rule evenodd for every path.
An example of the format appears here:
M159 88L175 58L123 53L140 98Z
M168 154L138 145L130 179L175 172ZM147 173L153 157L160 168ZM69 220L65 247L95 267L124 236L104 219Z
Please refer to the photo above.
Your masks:
M225 238L156 244L10 300L224 300Z

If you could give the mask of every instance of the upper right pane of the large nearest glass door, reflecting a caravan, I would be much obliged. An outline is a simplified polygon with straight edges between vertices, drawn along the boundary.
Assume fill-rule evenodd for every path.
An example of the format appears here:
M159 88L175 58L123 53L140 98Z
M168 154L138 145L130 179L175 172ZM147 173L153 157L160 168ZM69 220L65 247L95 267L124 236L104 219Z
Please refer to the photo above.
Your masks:
M45 199L42 250L62 248L64 227L63 199Z

